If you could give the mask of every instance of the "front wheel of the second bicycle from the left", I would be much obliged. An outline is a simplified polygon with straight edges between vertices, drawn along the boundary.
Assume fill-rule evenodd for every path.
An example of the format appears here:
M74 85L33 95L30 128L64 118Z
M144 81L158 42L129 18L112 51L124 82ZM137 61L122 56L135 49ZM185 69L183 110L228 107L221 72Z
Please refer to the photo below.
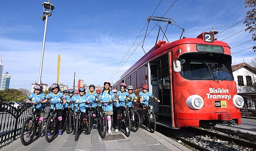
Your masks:
M46 121L45 137L46 141L50 143L55 137L56 119L51 115Z

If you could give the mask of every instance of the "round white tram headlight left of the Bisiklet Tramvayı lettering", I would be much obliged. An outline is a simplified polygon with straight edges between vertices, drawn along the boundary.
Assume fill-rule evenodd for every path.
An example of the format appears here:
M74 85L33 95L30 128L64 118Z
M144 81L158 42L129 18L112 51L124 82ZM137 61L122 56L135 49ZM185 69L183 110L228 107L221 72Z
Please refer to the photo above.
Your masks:
M204 105L204 100L199 95L191 95L187 98L186 103L192 110L198 110Z

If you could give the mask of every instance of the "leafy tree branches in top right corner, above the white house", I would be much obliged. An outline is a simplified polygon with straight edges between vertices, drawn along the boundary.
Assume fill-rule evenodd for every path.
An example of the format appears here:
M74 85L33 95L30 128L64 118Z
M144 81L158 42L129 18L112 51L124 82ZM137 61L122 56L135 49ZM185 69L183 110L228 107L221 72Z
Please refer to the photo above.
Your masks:
M252 10L249 10L246 14L244 24L246 26L245 31L252 33L252 40L256 41L256 0L245 0L245 8L250 7ZM254 52L256 52L256 46L253 47Z

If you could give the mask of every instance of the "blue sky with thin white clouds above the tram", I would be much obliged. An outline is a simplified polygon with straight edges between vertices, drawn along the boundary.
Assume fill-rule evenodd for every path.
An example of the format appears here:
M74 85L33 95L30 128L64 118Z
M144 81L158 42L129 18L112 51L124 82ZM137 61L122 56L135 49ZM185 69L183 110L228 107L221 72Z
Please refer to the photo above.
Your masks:
M87 85L102 85L107 79L117 81L144 55L140 43L145 36L146 28L142 29L146 18L152 14L162 17L171 5L164 17L174 19L176 25L184 28L185 37L197 37L203 31L211 31L212 26L224 31L244 19L249 9L244 8L243 0L160 1L51 0L55 9L48 19L42 83L56 83L58 54L61 55L60 83L72 87L74 72L75 81L83 79ZM31 84L38 81L45 26L39 17L43 15L43 2L47 0L0 1L0 53L3 73L12 74L10 88L30 90ZM154 25L150 22L149 31ZM229 37L243 29L242 21L216 36L231 48L236 46L231 49L232 65L243 60L249 63L255 56L252 49L245 50L255 45L248 31ZM154 46L157 32L155 27L145 39L146 52ZM168 40L179 39L181 32L177 26L169 25ZM238 52L241 50L244 51ZM112 75L116 68L120 69Z

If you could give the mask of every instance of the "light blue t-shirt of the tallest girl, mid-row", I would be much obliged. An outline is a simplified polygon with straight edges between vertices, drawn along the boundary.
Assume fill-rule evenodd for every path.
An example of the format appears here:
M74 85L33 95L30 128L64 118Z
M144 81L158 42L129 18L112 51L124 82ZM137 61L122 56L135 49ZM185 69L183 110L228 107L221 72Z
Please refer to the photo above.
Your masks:
M111 101L112 99L115 99L114 93L110 91L110 95L108 91L103 91L99 94L99 100L102 100L103 102ZM113 103L108 103L107 105L103 105L104 111L113 111Z

